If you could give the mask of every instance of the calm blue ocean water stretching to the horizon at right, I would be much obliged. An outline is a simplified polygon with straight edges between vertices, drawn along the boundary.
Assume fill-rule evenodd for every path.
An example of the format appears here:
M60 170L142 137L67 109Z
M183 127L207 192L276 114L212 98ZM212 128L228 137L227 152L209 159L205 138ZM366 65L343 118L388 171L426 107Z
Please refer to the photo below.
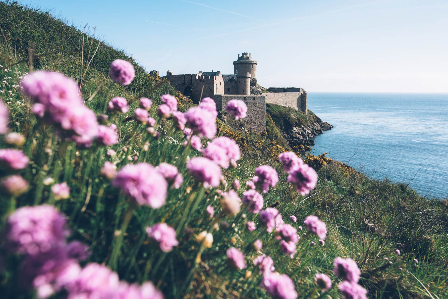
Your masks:
M334 126L314 154L448 196L448 94L308 93L308 109Z

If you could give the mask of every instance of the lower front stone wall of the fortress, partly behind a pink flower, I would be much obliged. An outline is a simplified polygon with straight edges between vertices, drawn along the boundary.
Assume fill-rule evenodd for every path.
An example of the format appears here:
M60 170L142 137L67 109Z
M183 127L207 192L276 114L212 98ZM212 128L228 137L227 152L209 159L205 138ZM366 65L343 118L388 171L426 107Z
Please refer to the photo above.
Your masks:
M228 101L234 98L243 100L247 105L247 117L243 119L252 131L266 132L266 98L263 95L216 94L213 99L218 111L224 111Z

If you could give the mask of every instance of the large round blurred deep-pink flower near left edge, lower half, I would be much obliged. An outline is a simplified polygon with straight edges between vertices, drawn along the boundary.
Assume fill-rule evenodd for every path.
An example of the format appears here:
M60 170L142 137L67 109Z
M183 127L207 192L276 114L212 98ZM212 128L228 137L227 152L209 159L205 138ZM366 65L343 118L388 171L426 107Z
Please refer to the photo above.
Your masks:
M22 207L6 221L9 248L30 256L49 252L65 243L69 231L65 218L52 205Z

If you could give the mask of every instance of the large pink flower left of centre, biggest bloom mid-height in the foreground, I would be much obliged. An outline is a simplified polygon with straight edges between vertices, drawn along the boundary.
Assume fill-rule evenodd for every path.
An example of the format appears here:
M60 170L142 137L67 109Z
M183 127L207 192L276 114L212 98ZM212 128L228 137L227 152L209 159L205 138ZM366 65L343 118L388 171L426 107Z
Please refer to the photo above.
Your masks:
M168 183L151 164L126 165L118 171L112 185L119 187L139 205L158 209L165 204Z

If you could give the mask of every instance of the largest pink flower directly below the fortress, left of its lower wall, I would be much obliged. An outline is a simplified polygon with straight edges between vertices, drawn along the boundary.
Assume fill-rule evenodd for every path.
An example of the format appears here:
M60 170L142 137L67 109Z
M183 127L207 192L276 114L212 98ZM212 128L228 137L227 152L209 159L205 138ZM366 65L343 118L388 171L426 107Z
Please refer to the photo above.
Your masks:
M216 134L216 117L201 107L192 107L185 112L187 125L199 137L212 139Z

